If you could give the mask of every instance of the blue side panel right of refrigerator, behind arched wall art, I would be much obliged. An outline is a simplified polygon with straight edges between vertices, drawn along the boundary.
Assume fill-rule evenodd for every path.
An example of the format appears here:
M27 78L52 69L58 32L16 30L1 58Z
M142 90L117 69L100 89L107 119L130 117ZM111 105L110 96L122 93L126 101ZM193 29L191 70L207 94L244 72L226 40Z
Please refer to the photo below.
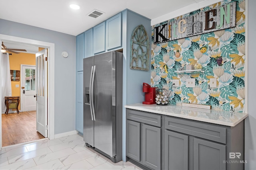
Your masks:
M123 76L126 79L123 81L123 104L142 103L144 101L144 93L142 92L142 83L150 84L150 69L148 71L130 69L130 49L131 37L133 30L138 25L143 25L147 31L149 40L151 39L151 21L148 18L136 14L130 10L122 12L122 27L123 27ZM150 59L149 59L150 60ZM150 61L149 61L150 62ZM123 160L126 160L126 110L123 108Z

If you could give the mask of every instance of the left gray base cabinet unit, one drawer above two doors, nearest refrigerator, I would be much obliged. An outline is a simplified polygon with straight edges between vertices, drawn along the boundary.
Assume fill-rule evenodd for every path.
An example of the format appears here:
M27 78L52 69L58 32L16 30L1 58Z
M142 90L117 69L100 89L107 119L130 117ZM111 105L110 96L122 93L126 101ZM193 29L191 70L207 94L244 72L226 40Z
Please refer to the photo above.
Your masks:
M147 169L161 169L161 116L126 111L126 156Z

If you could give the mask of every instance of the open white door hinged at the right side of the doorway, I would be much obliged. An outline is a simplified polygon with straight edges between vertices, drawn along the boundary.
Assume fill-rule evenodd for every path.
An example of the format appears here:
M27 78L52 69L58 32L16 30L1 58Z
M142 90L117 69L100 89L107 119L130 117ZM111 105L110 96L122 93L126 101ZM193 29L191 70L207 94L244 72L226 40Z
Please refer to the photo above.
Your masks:
M47 49L36 53L36 130L47 137Z

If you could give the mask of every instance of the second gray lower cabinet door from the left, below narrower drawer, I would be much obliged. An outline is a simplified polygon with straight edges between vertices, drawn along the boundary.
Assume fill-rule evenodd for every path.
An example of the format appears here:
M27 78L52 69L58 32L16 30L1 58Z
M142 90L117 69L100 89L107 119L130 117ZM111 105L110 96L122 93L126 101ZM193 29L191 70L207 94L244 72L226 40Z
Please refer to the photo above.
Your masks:
M153 169L161 169L161 130L158 127L142 125L142 162Z

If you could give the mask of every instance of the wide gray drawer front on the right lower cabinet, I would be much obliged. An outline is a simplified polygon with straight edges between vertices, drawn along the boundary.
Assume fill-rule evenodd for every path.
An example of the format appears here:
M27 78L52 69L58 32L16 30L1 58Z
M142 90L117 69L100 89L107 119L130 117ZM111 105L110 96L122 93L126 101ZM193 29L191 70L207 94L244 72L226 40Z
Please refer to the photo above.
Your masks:
M226 144L226 128L195 121L166 117L165 128Z

